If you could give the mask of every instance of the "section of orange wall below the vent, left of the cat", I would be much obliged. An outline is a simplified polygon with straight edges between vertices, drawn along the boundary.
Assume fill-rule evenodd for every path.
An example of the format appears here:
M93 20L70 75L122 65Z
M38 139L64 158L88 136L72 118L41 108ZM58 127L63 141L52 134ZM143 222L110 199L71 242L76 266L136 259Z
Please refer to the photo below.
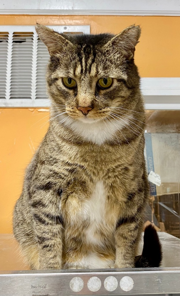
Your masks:
M12 231L25 168L48 127L49 112L38 110L0 109L0 233Z

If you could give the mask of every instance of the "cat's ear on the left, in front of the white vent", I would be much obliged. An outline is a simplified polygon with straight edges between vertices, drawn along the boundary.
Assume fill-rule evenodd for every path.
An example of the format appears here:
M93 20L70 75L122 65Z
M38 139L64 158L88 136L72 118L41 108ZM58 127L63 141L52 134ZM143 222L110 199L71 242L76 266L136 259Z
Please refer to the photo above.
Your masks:
M37 24L35 29L40 40L43 41L43 43L47 46L48 52L51 56L55 55L56 53L61 53L68 45L73 46L73 44L61 34L46 26Z

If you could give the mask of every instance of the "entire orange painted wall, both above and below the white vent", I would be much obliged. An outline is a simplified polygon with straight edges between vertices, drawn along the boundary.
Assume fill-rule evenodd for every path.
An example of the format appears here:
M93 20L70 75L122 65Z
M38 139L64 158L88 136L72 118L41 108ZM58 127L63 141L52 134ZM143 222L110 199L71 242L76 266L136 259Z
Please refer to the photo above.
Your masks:
M0 25L90 25L91 33L142 27L135 52L142 77L180 77L180 17L1 15ZM25 167L48 127L41 109L0 109L0 233L12 231L12 210Z

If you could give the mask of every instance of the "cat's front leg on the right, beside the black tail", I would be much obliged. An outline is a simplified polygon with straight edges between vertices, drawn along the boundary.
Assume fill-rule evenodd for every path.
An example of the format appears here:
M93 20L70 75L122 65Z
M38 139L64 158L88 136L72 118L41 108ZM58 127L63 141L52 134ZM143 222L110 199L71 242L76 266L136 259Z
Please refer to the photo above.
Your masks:
M135 250L139 240L141 219L135 217L121 218L116 227L115 247L116 260L115 268L133 268Z

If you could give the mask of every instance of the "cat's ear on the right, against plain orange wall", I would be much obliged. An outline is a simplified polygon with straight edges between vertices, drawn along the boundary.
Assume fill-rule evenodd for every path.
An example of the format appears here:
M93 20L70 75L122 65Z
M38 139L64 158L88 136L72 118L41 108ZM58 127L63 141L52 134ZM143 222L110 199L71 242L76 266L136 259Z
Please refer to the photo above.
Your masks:
M111 48L111 51L113 50L116 54L119 52L130 60L134 57L135 46L138 43L140 35L140 26L132 25L114 36L104 45L104 48Z

